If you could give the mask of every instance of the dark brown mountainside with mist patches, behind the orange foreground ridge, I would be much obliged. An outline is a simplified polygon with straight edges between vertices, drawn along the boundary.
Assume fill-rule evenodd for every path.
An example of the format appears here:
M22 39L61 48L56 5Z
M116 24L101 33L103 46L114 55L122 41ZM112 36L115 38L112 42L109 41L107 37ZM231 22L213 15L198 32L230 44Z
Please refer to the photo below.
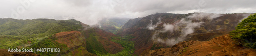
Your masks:
M157 13L131 19L117 32L119 36L135 38L135 54L145 49L168 48L186 40L208 41L234 30L249 13L211 14Z

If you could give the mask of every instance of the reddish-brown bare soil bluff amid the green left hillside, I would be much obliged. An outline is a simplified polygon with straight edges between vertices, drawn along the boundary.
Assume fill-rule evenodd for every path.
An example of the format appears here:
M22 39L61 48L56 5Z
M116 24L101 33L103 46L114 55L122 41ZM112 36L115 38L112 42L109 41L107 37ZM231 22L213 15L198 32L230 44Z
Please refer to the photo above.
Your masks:
M86 39L78 31L60 32L54 35L58 43L66 44L73 55L95 55L86 50Z

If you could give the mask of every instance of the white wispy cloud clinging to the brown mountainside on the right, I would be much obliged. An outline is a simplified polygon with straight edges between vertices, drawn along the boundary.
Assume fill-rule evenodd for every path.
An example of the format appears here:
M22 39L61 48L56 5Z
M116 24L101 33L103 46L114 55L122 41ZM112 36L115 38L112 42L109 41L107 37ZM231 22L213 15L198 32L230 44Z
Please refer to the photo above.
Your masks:
M198 14L197 14L198 15ZM187 18L191 18L191 16L195 16L195 15L190 15ZM205 16L205 15L203 15ZM196 16L195 16L196 17ZM198 18L198 17L196 17ZM154 33L154 35L152 36L153 40L156 40L159 43L165 43L166 45L172 46L175 45L181 41L184 41L186 38L186 36L188 34L194 33L194 29L196 27L200 27L200 25L204 22L192 22L190 20L185 20L185 18L182 18L181 20L179 20L177 23L173 24L168 24L168 23L164 23L163 26L164 28L160 31L156 31ZM177 30L181 30L180 35L176 36L176 37L172 37L172 38L167 38L167 39L161 39L160 37L158 37L159 33L165 33L170 31L170 34L173 33L173 31L177 31Z

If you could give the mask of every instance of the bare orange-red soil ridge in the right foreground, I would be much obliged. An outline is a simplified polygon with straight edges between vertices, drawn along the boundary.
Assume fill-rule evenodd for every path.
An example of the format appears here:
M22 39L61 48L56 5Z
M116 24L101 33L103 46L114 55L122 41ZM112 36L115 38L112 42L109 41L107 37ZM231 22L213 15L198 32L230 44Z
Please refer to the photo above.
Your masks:
M172 48L161 48L156 50L145 50L141 55L234 55L255 56L255 49L239 45L229 35L216 37L209 41L184 41L174 45Z

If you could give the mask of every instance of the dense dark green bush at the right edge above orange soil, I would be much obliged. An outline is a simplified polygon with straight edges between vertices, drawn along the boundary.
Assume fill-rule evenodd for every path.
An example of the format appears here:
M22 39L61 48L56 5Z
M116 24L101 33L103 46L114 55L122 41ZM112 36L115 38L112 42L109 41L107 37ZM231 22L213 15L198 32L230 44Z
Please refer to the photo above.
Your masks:
M243 19L230 35L244 46L256 48L256 13Z

